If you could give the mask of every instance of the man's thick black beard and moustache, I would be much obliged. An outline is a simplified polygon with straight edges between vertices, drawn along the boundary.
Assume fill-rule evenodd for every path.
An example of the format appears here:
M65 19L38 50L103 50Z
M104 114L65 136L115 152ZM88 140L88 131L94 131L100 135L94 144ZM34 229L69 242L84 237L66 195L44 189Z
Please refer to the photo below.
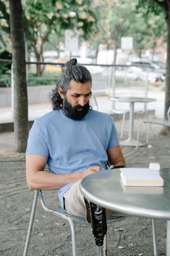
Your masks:
M74 107L67 101L67 98L64 98L64 114L73 120L82 120L83 117L88 113L90 108L89 101L84 106L76 105ZM78 110L82 109L82 110Z

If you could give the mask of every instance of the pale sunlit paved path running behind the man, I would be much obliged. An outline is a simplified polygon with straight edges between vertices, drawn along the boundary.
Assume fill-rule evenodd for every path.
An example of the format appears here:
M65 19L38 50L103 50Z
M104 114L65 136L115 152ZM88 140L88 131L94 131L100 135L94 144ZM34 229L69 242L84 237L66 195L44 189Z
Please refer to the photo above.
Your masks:
M136 96L145 97L145 91L136 88L117 88L116 96ZM148 91L148 98L156 99L156 102L151 102L147 104L147 110L155 110L155 115L157 117L164 117L164 105L165 105L165 91L158 89ZM106 96L96 97L99 111L109 113L112 109L112 102L108 100ZM91 99L91 104L96 109L95 101ZM116 109L129 110L129 103L127 102L115 102ZM135 111L142 111L144 109L144 104L136 102L134 105ZM34 120L43 114L46 114L52 110L51 103L40 103L28 106L28 118L30 121ZM13 122L12 109L11 108L0 108L0 124Z

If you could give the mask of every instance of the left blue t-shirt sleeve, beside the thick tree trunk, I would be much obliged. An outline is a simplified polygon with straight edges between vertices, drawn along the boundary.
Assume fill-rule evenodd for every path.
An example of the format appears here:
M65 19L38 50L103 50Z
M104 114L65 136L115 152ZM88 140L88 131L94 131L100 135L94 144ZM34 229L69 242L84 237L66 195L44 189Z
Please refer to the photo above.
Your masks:
M49 156L47 130L44 124L41 124L38 119L35 119L30 130L26 154Z

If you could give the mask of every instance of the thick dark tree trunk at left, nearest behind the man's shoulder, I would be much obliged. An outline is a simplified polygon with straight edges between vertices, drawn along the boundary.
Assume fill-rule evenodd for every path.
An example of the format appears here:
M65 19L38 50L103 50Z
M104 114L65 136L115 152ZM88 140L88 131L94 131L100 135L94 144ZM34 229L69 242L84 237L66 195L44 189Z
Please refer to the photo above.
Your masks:
M28 98L21 0L10 0L12 62L14 69L14 134L16 151L25 152L28 139Z

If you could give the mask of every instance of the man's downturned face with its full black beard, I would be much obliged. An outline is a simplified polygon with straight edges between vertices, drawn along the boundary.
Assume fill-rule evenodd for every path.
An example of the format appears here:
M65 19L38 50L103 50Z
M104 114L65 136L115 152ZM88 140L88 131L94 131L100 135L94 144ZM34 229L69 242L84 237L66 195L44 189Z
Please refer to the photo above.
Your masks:
M60 90L59 90L60 93ZM70 89L63 98L63 111L73 120L81 120L89 110L89 98L91 96L91 83L84 84L71 80Z

